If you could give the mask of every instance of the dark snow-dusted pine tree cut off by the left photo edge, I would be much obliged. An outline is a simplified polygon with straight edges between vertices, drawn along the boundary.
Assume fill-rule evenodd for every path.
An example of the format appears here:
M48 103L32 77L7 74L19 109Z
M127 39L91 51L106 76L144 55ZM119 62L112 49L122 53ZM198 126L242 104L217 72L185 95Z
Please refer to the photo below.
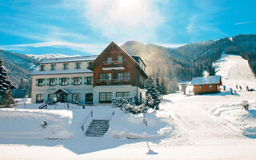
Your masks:
M10 107L11 104L14 104L14 98L11 97L10 90L15 87L11 84L6 67L3 66L2 62L2 59L0 59L0 106Z

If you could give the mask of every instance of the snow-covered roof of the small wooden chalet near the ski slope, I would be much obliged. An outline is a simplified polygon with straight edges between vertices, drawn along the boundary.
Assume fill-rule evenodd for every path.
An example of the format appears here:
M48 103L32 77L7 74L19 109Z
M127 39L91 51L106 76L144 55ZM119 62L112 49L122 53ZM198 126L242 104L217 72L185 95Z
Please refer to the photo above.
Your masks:
M192 78L192 85L208 85L208 84L218 84L220 83L221 76L214 75L205 77Z

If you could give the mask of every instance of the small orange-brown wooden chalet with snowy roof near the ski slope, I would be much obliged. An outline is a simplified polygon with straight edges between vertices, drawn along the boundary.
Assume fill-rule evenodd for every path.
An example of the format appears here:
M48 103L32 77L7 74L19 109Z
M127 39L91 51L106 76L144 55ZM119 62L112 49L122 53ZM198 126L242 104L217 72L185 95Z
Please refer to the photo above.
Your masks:
M191 85L194 86L194 94L215 94L220 91L222 78L219 75L192 78Z

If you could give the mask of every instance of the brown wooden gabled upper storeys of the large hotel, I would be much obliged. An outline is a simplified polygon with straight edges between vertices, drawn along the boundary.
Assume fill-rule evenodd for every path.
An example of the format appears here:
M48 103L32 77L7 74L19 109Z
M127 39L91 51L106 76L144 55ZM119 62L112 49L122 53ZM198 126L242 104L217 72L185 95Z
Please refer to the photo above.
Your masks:
M102 51L88 69L94 71L94 86L131 85L144 88L147 78L142 59L130 56L114 42Z

